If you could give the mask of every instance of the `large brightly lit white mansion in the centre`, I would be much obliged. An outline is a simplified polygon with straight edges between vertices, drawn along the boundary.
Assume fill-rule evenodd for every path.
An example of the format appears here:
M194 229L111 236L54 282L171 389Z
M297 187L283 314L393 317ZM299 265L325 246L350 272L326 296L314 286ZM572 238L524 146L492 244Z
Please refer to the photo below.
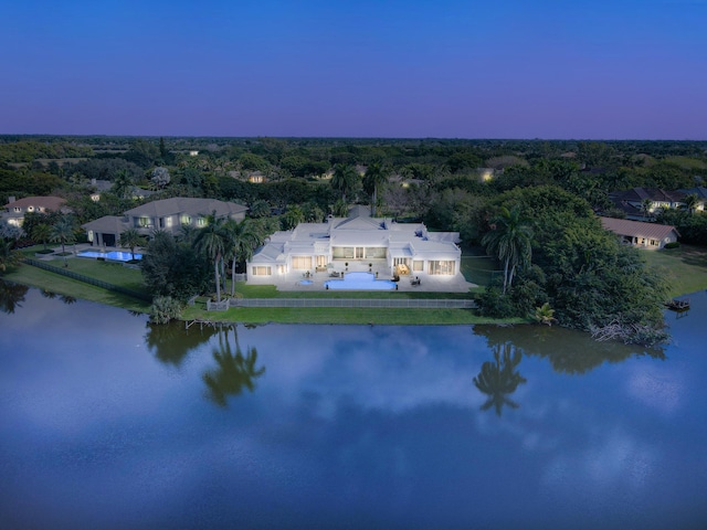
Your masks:
M292 272L377 268L391 274L456 276L462 252L457 232L429 232L422 223L395 223L368 216L368 208L354 209L346 219L302 223L275 232L247 262L249 283L270 283Z

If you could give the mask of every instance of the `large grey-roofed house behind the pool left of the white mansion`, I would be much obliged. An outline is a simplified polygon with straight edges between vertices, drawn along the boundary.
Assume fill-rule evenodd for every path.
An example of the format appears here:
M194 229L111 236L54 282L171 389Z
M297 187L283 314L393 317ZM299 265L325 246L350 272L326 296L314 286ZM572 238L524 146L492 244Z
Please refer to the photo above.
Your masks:
M107 215L83 225L92 245L116 246L120 233L137 229L143 235L163 230L175 235L183 225L201 229L207 225L207 215L215 212L219 218L236 221L245 219L247 208L234 202L215 199L172 198L148 202L128 210L123 216Z

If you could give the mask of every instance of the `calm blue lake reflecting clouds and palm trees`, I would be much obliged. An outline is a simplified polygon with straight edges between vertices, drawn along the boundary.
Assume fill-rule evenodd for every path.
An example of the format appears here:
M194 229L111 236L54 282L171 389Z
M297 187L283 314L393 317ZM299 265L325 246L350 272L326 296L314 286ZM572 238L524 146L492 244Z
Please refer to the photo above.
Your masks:
M704 293L650 354L0 295L3 528L707 526Z

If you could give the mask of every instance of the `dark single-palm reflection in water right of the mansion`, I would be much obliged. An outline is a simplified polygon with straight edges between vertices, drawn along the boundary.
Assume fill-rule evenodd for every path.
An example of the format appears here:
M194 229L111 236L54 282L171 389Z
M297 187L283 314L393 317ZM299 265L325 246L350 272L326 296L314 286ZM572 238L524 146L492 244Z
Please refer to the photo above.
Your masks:
M479 391L488 395L486 403L482 405L482 411L487 411L493 406L496 410L496 414L500 416L504 405L511 409L520 406L510 400L508 395L513 394L519 384L525 383L526 379L516 371L523 354L520 350L514 349L513 343L496 344L494 359L495 362L486 361L482 364L482 371L474 378L474 384Z

